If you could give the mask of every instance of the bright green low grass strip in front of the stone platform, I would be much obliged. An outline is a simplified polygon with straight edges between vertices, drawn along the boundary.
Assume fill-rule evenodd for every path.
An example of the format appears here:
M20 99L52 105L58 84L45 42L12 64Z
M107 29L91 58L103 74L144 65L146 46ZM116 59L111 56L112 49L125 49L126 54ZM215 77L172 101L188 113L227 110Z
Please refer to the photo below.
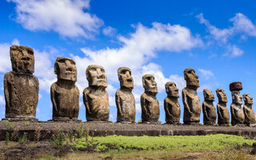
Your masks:
M78 138L71 143L77 150L90 146L96 146L94 151L110 150L223 150L226 146L249 145L256 142L255 139L245 139L241 136L227 134L211 134L205 136L141 136L128 137L110 135L106 137Z

